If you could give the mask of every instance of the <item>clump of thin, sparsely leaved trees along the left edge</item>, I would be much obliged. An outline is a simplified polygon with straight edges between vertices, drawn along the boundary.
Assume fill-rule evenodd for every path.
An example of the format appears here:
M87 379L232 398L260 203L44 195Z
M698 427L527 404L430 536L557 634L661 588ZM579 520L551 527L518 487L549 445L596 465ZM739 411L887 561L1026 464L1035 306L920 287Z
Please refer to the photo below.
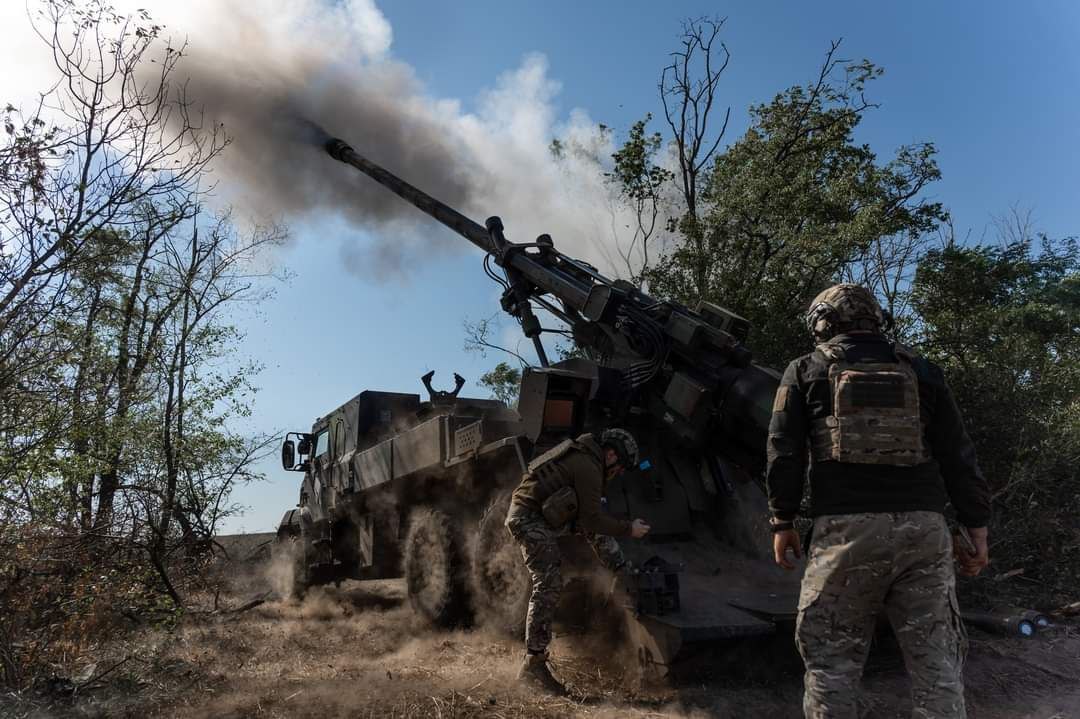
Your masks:
M178 568L267 448L231 429L256 367L230 317L266 297L259 254L285 236L206 211L227 143L191 112L183 53L145 12L41 6L57 82L29 112L8 106L0 147L0 614L14 623L0 642L15 642L0 655L16 664L11 626L48 643L85 607L19 599L53 584L89 582L112 610L183 603Z

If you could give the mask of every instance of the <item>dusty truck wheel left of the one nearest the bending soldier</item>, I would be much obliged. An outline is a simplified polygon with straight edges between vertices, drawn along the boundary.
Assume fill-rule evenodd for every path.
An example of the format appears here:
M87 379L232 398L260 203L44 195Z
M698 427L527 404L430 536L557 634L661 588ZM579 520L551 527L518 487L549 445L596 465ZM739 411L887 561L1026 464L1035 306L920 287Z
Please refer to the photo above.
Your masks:
M413 608L436 626L467 621L468 575L464 541L457 523L438 510L415 510L405 537L405 583Z

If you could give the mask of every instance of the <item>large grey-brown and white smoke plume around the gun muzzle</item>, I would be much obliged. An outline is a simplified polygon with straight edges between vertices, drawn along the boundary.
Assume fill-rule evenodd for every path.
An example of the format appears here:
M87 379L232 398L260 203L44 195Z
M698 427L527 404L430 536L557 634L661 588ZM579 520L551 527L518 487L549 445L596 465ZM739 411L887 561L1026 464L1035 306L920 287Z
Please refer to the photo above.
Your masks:
M616 269L607 245L626 220L597 164L609 138L581 111L556 122L558 84L542 56L494 79L467 112L432 97L391 56L391 28L373 0L178 4L151 2L150 11L174 44L187 38L179 79L232 140L215 168L219 193L251 216L343 218L365 231L346 258L369 276L392 275L421 252L464 246L328 158L313 123L480 222L502 216L512 240L548 232L562 249ZM571 150L558 161L555 137Z

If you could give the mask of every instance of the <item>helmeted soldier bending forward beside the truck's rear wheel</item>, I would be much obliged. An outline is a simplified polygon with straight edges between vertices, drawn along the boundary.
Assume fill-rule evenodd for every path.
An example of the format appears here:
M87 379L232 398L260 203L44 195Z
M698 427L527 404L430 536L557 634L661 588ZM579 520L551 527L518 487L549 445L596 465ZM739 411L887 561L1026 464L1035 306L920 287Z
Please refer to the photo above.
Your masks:
M548 668L551 625L563 588L562 557L556 537L569 528L582 534L611 571L629 566L617 537L640 539L649 531L642 519L629 521L602 507L607 483L625 467L637 465L637 443L624 430L606 430L599 442L583 434L567 439L529 464L514 490L507 529L522 547L532 578L532 595L525 621L525 659L518 679L561 693L563 686Z

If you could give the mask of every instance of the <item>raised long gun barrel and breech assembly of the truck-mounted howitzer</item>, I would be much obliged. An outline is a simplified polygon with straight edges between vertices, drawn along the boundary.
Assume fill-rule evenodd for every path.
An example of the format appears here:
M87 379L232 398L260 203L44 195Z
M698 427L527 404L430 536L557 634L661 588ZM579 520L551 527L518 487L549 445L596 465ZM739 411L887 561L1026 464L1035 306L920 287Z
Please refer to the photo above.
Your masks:
M326 150L487 253L505 274L502 308L518 320L542 366L549 364L544 329L532 304L566 323L575 343L597 362L594 399L607 398L612 421L644 410L680 443L710 448L751 472L760 469L777 376L751 362L745 320L708 302L694 311L657 300L564 255L546 234L509 242L500 218L481 227L343 140L327 141Z

